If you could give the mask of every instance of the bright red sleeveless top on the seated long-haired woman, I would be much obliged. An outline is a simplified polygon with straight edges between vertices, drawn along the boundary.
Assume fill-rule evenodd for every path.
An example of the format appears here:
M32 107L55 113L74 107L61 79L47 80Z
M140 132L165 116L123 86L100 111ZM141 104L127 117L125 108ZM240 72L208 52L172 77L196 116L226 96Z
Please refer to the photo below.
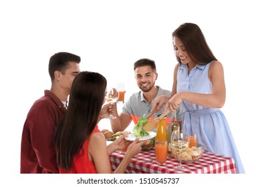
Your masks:
M96 125L96 127L94 128L92 134L94 134L95 132L100 132L100 130L98 129L98 125ZM72 163L73 166L70 171L66 172L59 169L60 174L96 174L94 162L92 160L89 160L88 156L88 147L92 134L90 134L89 138L84 142L84 145L79 153L74 156Z

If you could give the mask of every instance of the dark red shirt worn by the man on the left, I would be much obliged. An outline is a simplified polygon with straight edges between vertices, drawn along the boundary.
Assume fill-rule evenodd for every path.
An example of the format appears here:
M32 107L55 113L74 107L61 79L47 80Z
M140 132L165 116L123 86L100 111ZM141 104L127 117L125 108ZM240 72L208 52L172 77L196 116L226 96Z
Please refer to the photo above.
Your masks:
M57 96L45 90L23 126L21 138L21 173L59 173L54 144L55 128L66 108Z

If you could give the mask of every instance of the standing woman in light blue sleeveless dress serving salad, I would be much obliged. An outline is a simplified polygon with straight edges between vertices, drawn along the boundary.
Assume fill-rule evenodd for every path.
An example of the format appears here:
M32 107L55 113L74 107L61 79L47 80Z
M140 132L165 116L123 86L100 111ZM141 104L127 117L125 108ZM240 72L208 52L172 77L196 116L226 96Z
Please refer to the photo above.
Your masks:
M229 124L219 108L225 104L223 65L213 55L194 23L184 23L172 33L178 64L174 68L172 95L154 100L152 109L165 105L174 111L182 104L186 112L182 129L197 131L205 150L235 160L238 173L245 173Z

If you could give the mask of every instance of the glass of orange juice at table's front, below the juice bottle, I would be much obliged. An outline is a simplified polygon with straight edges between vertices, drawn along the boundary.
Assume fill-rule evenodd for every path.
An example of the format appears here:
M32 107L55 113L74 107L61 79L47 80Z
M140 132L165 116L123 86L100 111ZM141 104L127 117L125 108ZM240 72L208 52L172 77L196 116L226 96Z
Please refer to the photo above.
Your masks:
M156 163L164 166L167 160L167 140L158 139L155 141L154 149L156 150Z

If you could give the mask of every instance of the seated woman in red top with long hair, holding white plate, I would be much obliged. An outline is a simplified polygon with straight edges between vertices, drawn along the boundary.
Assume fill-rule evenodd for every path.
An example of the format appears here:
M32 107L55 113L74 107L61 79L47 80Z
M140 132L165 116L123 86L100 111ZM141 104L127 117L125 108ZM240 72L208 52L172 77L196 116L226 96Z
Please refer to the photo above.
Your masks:
M79 73L70 91L68 110L55 134L60 173L111 173L109 154L125 146L124 136L106 147L97 122L105 102L106 78L100 73ZM114 173L124 173L144 142L134 141Z

